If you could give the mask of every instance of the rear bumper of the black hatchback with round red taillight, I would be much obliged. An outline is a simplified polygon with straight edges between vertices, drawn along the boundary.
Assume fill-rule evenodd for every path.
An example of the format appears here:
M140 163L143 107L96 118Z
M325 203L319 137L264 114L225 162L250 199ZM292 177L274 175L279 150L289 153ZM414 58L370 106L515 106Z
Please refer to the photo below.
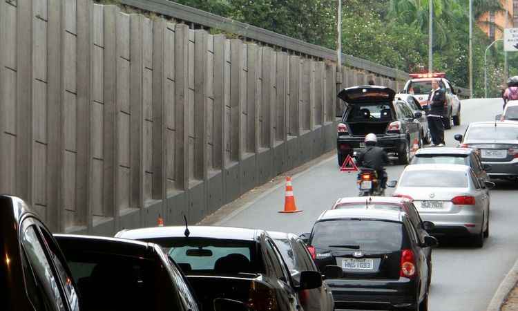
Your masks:
M417 301L418 288L414 279L398 280L327 280L336 309L397 310Z

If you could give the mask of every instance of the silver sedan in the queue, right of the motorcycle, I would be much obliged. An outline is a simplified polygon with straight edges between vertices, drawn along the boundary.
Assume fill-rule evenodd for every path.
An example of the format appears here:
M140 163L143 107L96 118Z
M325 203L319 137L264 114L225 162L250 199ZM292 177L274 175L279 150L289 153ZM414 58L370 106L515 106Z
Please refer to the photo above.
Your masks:
M489 236L489 189L473 170L457 164L415 164L405 168L394 196L410 198L423 221L434 223L434 236L470 236L477 247Z

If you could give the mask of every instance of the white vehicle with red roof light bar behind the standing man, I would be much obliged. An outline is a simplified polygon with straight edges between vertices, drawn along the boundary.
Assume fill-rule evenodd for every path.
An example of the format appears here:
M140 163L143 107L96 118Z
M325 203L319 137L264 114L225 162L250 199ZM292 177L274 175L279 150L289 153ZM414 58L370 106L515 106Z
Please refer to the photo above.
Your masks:
M445 129L452 128L453 125L461 124L461 101L454 91L452 83L446 79L445 73L411 73L410 79L405 84L402 93L412 94L419 101L421 106L428 105L428 95L432 91L432 81L439 81L439 86L445 91L446 104L444 106Z

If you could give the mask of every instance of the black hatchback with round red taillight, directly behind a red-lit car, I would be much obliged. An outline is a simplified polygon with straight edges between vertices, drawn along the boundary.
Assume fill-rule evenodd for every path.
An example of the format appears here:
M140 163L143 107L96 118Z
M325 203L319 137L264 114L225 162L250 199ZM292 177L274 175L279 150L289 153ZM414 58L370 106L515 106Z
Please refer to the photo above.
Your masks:
M428 310L427 247L407 214L399 210L333 209L325 211L309 236L318 269L342 269L327 279L335 308Z

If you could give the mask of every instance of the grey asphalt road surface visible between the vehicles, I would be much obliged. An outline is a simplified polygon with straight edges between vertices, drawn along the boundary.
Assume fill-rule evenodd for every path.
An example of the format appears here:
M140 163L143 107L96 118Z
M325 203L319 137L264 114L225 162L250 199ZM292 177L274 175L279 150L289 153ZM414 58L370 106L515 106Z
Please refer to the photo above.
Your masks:
M445 133L448 146L455 146L454 133L464 133L469 122L494 120L501 100L465 100L462 125ZM403 166L387 167L389 179L397 179ZM265 191L246 209L223 219L220 225L257 227L301 234L309 232L314 220L337 198L356 196L356 174L340 173L336 156L294 176L298 214L278 214L284 202L284 187ZM490 237L482 249L463 241L440 241L434 249L430 310L486 310L499 283L518 257L518 185L497 182L491 191ZM387 195L392 192L388 191Z

